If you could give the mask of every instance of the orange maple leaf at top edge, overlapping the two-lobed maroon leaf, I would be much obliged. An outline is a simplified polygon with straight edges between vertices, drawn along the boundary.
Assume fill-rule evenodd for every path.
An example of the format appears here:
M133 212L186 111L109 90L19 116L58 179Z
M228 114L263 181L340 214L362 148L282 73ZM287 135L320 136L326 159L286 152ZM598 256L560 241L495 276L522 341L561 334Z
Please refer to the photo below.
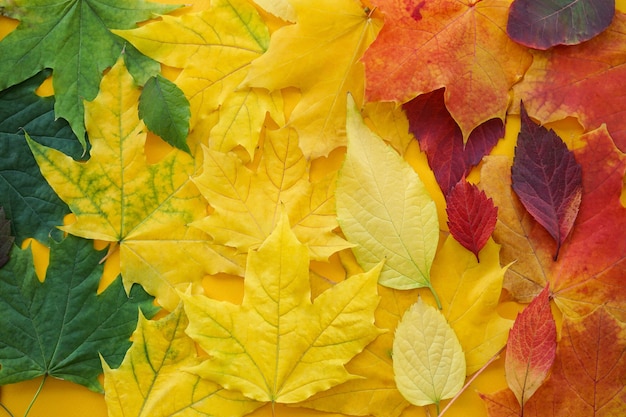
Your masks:
M482 123L504 120L508 91L531 63L506 35L508 1L372 4L385 14L385 26L363 58L369 101L404 103L445 87L464 141Z

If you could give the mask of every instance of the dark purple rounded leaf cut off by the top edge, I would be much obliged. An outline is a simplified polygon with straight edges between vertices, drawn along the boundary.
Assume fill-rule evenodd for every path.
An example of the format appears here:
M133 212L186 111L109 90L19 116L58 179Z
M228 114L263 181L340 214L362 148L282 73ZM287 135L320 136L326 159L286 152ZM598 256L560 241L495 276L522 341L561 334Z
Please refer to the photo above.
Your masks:
M614 15L615 0L515 0L506 31L531 48L576 45L606 29Z

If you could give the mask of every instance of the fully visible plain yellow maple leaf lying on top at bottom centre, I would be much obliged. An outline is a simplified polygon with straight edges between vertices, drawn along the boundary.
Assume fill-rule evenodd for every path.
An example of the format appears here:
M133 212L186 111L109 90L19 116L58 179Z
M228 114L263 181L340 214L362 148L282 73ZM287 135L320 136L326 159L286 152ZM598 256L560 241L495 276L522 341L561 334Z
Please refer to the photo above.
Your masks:
M344 368L376 338L380 265L311 301L308 249L286 215L248 254L241 305L182 295L187 334L211 359L203 378L263 402L295 403L349 379Z

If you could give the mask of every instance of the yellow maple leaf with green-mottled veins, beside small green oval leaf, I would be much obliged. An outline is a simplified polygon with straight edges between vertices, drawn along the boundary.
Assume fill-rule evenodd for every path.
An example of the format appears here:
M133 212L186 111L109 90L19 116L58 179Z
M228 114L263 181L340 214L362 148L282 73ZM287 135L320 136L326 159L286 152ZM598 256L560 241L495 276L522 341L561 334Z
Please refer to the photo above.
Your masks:
M176 288L200 288L207 273L241 273L234 251L211 245L189 223L206 214L206 201L191 181L194 160L173 149L148 164L146 128L138 118L140 90L120 59L85 103L91 158L74 161L29 140L42 174L76 215L62 229L87 239L119 242L127 291L133 283L173 309Z

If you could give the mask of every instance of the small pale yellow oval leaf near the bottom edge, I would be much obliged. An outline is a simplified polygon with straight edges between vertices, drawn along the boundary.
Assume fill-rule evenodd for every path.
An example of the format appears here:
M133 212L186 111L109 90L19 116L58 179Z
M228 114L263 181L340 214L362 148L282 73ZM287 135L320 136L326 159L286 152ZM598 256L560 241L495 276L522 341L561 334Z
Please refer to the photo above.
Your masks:
M393 342L398 390L412 404L439 404L465 381L465 356L445 317L418 299L404 314Z

